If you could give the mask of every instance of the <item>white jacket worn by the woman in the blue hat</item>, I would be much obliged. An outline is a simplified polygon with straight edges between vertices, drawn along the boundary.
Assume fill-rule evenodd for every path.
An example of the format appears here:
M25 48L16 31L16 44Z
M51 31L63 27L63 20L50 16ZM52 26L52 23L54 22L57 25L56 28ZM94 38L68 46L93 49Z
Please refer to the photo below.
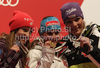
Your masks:
M67 68L66 61L55 56L53 48L36 45L27 55L26 68Z

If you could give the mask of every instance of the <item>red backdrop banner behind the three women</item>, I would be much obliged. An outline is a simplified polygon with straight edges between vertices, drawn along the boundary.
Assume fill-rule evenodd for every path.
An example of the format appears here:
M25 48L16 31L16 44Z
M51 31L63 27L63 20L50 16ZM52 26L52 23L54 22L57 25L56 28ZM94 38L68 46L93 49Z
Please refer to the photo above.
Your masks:
M83 0L0 0L0 33L9 34L9 21L14 10L28 13L34 20L35 28L30 40L33 40L38 34L40 22L45 16L55 16L61 24L61 38L68 34L61 19L60 8L67 2L78 2L80 6ZM87 6L84 6L87 7ZM93 8L94 9L94 8ZM84 12L84 11L83 11Z

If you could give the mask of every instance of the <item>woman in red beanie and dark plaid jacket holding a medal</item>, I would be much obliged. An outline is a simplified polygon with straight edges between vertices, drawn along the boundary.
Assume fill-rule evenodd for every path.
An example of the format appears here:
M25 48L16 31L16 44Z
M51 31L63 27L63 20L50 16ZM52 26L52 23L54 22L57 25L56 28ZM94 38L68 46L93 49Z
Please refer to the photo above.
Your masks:
M24 12L14 11L9 27L10 33L2 33L0 37L0 68L24 68L31 48L33 20Z

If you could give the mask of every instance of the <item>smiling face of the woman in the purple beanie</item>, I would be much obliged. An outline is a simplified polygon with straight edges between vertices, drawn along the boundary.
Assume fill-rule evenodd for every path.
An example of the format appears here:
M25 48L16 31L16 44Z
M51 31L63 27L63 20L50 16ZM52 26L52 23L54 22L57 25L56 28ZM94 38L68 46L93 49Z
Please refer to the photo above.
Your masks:
M71 31L69 33L75 35L76 37L79 37L82 30L84 29L84 21L81 17L75 17L66 20L65 25L68 28L71 28Z

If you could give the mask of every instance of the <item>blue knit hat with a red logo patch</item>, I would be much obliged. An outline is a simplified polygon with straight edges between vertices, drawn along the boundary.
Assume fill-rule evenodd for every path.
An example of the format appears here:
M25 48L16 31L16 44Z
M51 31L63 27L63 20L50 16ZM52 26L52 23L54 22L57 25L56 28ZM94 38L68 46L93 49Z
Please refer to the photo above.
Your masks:
M44 32L47 32L49 30L55 30L55 29L61 30L60 22L59 22L58 18L47 17L41 21L39 33L41 35Z

